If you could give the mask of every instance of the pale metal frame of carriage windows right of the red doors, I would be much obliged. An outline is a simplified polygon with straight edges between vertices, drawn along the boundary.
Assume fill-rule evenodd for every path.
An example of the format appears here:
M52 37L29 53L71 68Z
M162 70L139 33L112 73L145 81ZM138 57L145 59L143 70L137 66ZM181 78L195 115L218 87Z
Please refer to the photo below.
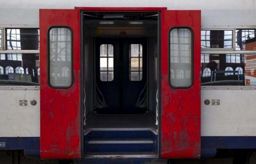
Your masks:
M226 55L226 54L256 54L256 51L252 50L236 50L236 30L256 30L256 26L202 26L201 30L233 30L233 48L201 48L201 54L219 54L219 55ZM202 66L202 65L201 65ZM202 89L230 89L233 88L246 88L246 89L255 89L255 86L201 86Z

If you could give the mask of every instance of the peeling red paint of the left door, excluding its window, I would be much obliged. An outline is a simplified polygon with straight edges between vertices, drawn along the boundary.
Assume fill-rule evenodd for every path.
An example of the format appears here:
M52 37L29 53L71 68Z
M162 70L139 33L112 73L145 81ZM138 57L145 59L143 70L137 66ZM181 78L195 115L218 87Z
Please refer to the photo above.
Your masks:
M53 89L47 82L47 30L69 26L73 31L73 84ZM81 157L80 120L80 11L40 9L40 151L42 159Z

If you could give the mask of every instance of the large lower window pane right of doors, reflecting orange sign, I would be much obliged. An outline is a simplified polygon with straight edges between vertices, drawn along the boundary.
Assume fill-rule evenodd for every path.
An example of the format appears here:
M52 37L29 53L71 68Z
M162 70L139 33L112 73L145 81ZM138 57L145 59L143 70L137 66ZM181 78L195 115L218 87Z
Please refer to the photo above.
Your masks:
M202 85L256 85L255 54L201 54Z

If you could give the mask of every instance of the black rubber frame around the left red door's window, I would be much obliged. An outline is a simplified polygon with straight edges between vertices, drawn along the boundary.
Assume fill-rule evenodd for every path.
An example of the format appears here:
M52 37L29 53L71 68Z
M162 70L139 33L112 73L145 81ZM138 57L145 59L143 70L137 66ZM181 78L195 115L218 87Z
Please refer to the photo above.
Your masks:
M51 83L50 83L50 30L52 29L52 28L68 28L69 30L70 30L70 37L71 37L71 39L70 39L70 42L71 42L71 70L70 70L70 73L71 73L71 82L70 82L70 84L68 85L68 86L54 86L54 85L52 85ZM68 88L70 88L72 85L73 85L73 82L74 82L74 73L73 73L73 71L74 71L74 68L73 68L73 58L74 58L74 54L73 54L73 30L72 30L72 28L71 27L69 27L69 26L50 26L48 29L47 29L47 35L46 35L46 48L47 48L47 50L46 50L46 52L47 52L47 66L46 66L46 68L47 68L47 83L48 83L48 86L49 87L51 87L51 88L53 88L53 89L68 89Z

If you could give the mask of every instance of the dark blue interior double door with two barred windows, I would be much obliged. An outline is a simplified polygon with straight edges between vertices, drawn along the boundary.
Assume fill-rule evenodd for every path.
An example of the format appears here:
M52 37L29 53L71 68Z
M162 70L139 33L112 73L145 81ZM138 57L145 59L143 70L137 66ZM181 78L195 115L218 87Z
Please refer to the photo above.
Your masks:
M147 39L95 39L95 110L143 114L147 110Z

